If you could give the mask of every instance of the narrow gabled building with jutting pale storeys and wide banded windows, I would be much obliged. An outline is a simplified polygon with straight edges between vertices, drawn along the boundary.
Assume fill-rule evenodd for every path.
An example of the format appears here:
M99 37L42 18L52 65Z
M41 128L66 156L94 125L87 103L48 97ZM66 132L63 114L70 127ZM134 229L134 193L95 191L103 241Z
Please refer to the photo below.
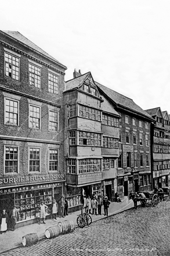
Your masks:
M119 115L100 97L91 72L66 82L65 155L67 198L70 209L81 204L83 194L108 194L116 186Z

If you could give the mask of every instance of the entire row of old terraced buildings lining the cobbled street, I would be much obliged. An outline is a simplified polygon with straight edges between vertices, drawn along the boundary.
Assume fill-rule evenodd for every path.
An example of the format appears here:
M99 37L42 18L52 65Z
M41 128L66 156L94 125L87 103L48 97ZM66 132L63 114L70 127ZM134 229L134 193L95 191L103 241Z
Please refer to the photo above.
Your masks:
M0 31L0 206L35 222L41 200L170 185L170 117L67 67L16 31Z

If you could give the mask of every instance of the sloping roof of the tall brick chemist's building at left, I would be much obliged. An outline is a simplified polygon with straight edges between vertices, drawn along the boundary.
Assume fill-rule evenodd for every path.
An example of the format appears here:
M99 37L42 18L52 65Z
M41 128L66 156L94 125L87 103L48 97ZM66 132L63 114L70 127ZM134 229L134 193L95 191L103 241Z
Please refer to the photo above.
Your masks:
M24 35L20 34L18 31L5 31L5 30L1 30L3 33L8 34L10 37L15 38L17 41L20 41L21 43L23 43L24 45L26 45L27 47L30 47L32 49L34 49L35 51L39 52L40 54L46 56L49 59L52 59L53 61L59 63L60 65L64 66L62 63L60 63L59 61L57 61L55 58L53 58L52 56L50 56L47 52L45 52L43 49L39 48L36 44L34 44L34 42L31 42L30 40L28 40L28 38L24 37Z

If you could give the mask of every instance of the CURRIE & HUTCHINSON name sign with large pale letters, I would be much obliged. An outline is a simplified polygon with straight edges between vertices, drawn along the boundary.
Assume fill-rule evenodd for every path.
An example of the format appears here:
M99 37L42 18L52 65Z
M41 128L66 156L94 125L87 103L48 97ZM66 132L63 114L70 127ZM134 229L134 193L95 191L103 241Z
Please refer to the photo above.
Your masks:
M64 174L0 177L0 186L12 186L12 184L21 185L30 183L45 183L60 180L64 180Z

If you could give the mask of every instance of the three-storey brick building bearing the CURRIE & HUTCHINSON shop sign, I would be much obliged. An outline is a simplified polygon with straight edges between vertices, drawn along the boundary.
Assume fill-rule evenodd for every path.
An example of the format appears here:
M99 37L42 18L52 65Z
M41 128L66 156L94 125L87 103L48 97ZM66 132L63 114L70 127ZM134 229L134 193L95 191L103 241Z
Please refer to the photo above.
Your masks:
M19 208L18 225L35 221L41 200L50 215L64 193L65 70L19 32L0 31L0 204Z

